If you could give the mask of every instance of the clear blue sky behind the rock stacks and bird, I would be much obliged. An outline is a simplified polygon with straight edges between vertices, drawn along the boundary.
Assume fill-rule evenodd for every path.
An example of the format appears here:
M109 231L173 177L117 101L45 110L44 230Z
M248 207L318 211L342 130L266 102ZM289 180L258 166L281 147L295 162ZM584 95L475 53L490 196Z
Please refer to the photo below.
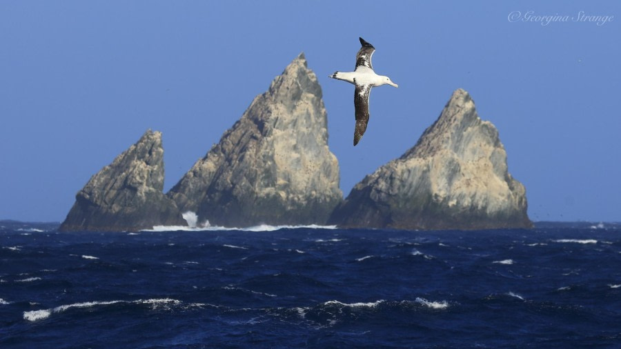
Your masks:
M354 148L353 88L328 74L353 69L359 36L399 88L373 90ZM303 51L345 195L464 88L531 219L621 221L620 43L618 1L0 0L0 219L62 221L148 128L168 190Z

